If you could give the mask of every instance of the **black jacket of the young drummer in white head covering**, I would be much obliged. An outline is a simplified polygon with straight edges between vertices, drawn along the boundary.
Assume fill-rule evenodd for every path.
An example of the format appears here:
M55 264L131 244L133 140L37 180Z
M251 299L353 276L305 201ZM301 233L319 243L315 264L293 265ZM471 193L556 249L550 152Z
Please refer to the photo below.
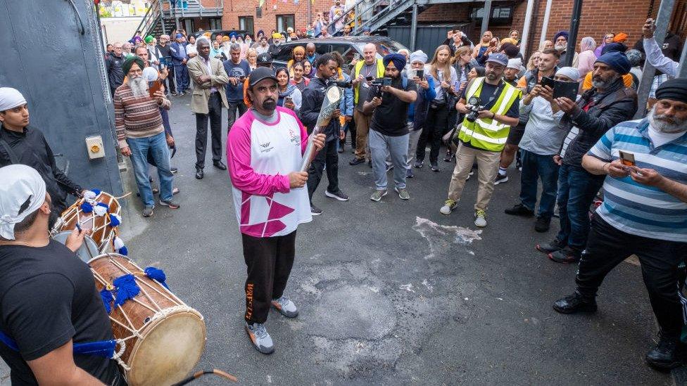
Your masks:
M10 131L0 126L0 139L3 139L17 158L17 163L30 166L38 171L45 181L46 191L50 194L53 206L58 212L65 209L67 193L78 195L82 188L74 184L55 165L55 157L43 133L39 129L26 127L23 133ZM11 165L11 157L0 145L0 167Z

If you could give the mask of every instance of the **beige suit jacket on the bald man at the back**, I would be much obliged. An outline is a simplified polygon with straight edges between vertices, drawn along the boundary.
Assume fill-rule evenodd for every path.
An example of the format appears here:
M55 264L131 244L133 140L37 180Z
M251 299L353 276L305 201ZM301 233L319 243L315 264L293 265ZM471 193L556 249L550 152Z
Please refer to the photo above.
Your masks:
M189 69L189 77L193 82L194 92L191 95L191 111L201 114L208 113L208 100L210 99L210 88L215 87L222 97L222 105L229 108L227 103L227 92L225 86L229 83L229 77L225 71L222 60L210 58L210 68L212 73L208 74L208 67L203 63L200 55L191 58L186 64ZM196 78L201 75L210 75L210 82L198 84Z

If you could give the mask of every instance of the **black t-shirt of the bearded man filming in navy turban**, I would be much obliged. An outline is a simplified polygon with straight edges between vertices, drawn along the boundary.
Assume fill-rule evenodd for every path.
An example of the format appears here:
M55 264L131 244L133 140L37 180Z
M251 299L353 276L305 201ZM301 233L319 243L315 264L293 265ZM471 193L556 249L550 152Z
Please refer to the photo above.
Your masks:
M408 84L403 89L403 79L398 77L393 79L391 86L403 91L417 92L415 82L412 82L410 79L407 82ZM374 98L374 93L368 93L367 101L372 101L372 98ZM370 129L379 131L385 136L403 136L408 134L408 105L410 103L403 102L389 93L384 93L382 95L382 104L374 109Z

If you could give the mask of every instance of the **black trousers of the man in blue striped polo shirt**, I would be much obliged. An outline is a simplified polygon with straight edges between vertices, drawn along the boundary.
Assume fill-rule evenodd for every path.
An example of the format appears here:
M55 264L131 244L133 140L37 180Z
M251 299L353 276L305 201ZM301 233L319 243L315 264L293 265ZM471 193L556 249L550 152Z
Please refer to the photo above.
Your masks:
M606 275L630 255L637 255L662 333L679 337L684 307L678 289L678 264L687 258L687 243L634 236L595 215L575 283L577 292L593 298Z

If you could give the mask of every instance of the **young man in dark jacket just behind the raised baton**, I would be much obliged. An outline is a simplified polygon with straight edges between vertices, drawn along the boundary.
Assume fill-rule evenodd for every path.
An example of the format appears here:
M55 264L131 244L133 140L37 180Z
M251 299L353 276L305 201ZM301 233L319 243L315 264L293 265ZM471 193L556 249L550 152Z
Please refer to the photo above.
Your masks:
M325 53L320 58L317 58L315 68L317 69L317 74L310 81L310 84L303 89L303 105L301 105L301 122L308 128L308 133L315 129L317 117L320 116L322 103L324 103L324 93L332 83L329 82L329 79L336 77L339 63L336 62L332 54ZM310 198L310 212L312 212L313 216L322 214L322 210L313 205L313 193L315 193L317 186L320 185L325 166L327 167L327 181L329 181L329 185L327 190L324 191L324 195L339 201L348 200L348 195L339 189L339 153L336 153L336 139L343 136L339 115L341 115L341 110L337 108L334 110L332 119L329 120L327 127L322 129L321 132L327 136L327 140L324 143L324 148L320 150L320 153L317 153L317 156L310 164L310 169L308 169L308 197Z

